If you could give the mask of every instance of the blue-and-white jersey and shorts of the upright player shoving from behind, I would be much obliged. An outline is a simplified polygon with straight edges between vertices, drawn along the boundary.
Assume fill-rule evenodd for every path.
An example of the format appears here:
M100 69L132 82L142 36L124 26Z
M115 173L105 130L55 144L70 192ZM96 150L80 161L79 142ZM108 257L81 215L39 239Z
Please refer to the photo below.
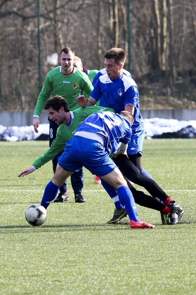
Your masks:
M102 95L104 103L100 103L100 106L111 107L115 110L115 113L123 111L128 104L134 106L134 123L131 126L133 136L127 153L135 154L139 152L142 154L145 128L139 110L139 92L135 81L124 74L115 80L110 79L107 74L102 75L97 80L90 96L99 101Z

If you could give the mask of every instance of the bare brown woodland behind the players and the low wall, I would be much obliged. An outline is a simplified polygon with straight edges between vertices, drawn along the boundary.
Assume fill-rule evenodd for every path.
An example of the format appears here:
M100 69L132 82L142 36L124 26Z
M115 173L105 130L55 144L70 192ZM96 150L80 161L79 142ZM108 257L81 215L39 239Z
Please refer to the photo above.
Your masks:
M64 47L88 69L103 68L104 52L121 47L140 95L195 105L195 0L0 0L0 25L0 111L33 110L59 65L47 56Z

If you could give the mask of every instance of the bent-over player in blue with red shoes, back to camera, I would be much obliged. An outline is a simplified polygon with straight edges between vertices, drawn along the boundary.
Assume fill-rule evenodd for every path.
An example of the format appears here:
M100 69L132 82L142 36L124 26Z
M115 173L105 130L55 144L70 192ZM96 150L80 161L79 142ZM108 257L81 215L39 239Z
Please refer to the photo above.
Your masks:
M41 205L47 208L67 177L84 166L117 190L120 203L129 215L131 228L155 228L138 218L134 198L126 180L109 157L117 149L119 151L115 157L126 155L133 121L133 116L126 111L120 114L99 112L86 118L77 128L74 137L66 143L55 175L45 188Z

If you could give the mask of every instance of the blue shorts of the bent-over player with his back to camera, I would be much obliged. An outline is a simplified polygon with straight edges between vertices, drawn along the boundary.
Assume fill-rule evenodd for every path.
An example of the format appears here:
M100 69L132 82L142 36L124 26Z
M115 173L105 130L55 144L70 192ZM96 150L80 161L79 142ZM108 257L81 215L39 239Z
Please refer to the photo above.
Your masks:
M84 166L99 177L117 168L101 143L77 135L66 142L58 164L67 171L77 171Z

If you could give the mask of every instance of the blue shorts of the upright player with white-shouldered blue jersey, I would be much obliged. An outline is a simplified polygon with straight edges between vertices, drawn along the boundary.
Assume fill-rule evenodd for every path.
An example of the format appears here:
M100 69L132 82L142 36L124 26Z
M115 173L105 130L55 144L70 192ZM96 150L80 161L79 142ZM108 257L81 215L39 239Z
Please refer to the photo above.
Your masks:
M137 153L142 154L143 142L144 142L145 130L137 132L131 135L131 140L128 144L127 153L128 155L134 155Z

